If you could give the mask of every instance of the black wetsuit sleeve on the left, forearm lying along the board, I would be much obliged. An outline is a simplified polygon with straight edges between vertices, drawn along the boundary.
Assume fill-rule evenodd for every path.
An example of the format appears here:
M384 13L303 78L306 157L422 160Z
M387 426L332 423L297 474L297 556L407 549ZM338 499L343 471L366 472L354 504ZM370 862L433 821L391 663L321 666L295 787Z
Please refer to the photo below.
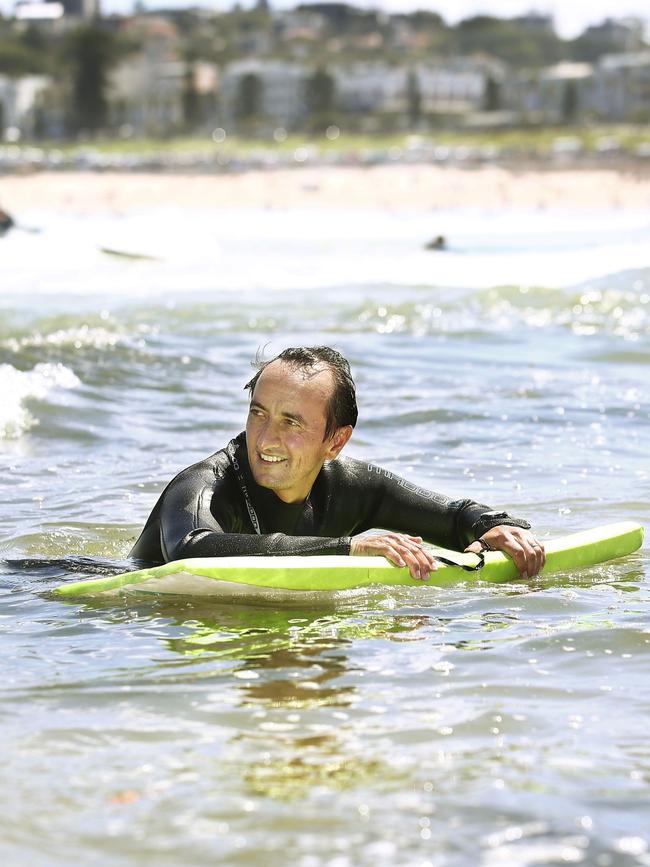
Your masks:
M350 540L320 536L227 532L210 505L220 480L209 464L180 473L165 492L160 509L160 547L165 562L185 557L348 554Z

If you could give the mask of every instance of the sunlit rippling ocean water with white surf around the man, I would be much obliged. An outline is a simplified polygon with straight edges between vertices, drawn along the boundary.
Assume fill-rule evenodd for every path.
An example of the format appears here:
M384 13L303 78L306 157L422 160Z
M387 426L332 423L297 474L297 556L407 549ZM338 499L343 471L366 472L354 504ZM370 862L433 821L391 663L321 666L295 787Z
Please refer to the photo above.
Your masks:
M347 355L354 456L543 538L648 525L647 214L21 222L40 231L0 239L4 863L650 864L647 545L320 606L50 592L124 561L166 482L242 429L264 347Z

